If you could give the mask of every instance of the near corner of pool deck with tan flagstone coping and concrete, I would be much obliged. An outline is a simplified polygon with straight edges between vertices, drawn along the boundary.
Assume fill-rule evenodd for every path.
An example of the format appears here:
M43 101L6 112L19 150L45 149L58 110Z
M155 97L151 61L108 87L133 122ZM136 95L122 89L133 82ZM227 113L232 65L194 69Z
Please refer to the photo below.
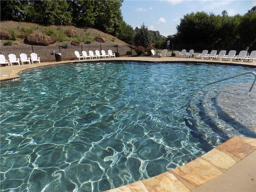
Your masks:
M234 136L195 160L106 192L255 191L256 139Z

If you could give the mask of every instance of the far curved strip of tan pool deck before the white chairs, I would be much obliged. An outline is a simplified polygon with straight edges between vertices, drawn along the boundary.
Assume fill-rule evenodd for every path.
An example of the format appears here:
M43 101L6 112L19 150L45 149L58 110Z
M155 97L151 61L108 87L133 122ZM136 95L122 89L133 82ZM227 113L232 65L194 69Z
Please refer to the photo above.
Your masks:
M117 58L106 58L106 59L92 59L92 60L66 60L60 62L43 62L36 64L25 64L25 65L13 65L13 66L1 66L0 67L0 81L4 80L16 80L20 78L18 73L42 66L50 66L56 64L76 63L76 62L110 62L110 61L136 61L136 62L191 62L191 63L206 63L206 64L224 64L234 66L248 66L256 68L256 62L240 62L240 61L220 61L220 60L202 60L195 58L178 58L178 57L164 57L164 58L153 58L153 57L117 57Z

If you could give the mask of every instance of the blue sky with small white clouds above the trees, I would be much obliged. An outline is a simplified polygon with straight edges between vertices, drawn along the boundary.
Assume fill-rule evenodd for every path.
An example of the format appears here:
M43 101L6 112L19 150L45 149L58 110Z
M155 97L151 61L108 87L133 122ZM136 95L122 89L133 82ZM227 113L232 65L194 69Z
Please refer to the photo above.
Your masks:
M227 10L229 16L244 15L253 6L256 0L124 0L121 11L124 21L134 29L144 23L148 30L168 36L176 33L180 18L187 13L221 15Z

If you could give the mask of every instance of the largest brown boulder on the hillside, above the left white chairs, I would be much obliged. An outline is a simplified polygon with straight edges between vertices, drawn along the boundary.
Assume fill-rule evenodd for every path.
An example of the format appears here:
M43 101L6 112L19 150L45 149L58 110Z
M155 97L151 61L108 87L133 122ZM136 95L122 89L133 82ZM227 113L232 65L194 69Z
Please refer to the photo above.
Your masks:
M30 34L24 39L24 43L28 45L49 46L55 42L56 38L43 34Z

